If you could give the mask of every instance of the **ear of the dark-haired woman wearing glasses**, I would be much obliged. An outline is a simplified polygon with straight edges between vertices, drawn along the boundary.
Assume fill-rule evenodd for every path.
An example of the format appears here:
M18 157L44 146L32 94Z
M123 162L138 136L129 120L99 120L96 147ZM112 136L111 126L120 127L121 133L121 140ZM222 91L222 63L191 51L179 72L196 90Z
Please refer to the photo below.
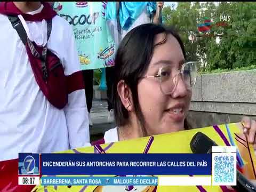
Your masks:
M121 80L117 84L117 92L123 103L123 106L128 110L132 111L132 93L129 86L126 85L124 80Z

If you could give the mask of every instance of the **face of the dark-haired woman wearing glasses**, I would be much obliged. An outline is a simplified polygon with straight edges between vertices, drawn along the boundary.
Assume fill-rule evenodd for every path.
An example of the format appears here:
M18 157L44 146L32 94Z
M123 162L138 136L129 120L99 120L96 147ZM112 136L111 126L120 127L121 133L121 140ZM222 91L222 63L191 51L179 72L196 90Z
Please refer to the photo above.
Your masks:
M158 34L155 43L164 38L164 34ZM174 76L184 62L179 42L172 35L167 35L165 43L155 46L145 76L157 75L162 67L170 69L171 76ZM142 78L138 84L139 103L148 135L184 130L191 91L186 88L180 75L172 93L164 94L159 85L158 78Z

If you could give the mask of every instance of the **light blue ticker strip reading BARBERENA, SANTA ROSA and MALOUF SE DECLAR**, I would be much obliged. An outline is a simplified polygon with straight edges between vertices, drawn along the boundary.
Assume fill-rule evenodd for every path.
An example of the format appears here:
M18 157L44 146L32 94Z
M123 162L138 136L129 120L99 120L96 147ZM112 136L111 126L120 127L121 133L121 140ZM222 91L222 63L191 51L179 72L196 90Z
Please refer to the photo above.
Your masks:
M42 186L157 186L157 177L42 177Z

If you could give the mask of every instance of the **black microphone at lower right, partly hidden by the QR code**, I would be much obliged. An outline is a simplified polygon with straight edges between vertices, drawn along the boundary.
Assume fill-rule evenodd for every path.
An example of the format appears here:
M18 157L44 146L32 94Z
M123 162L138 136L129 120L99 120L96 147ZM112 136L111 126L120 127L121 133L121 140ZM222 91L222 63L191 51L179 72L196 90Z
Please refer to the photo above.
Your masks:
M212 146L217 144L202 132L197 132L190 141L190 149L194 154L207 154L212 152ZM237 170L236 186L231 186L237 191L255 192L256 186L246 179L244 175Z

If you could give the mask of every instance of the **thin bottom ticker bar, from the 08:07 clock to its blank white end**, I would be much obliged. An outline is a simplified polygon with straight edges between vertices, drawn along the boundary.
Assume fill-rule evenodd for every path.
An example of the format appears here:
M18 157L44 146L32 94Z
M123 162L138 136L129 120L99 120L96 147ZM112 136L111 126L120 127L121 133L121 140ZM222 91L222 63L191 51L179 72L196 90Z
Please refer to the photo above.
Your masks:
M19 177L19 185L42 186L211 186L211 176L171 177Z

